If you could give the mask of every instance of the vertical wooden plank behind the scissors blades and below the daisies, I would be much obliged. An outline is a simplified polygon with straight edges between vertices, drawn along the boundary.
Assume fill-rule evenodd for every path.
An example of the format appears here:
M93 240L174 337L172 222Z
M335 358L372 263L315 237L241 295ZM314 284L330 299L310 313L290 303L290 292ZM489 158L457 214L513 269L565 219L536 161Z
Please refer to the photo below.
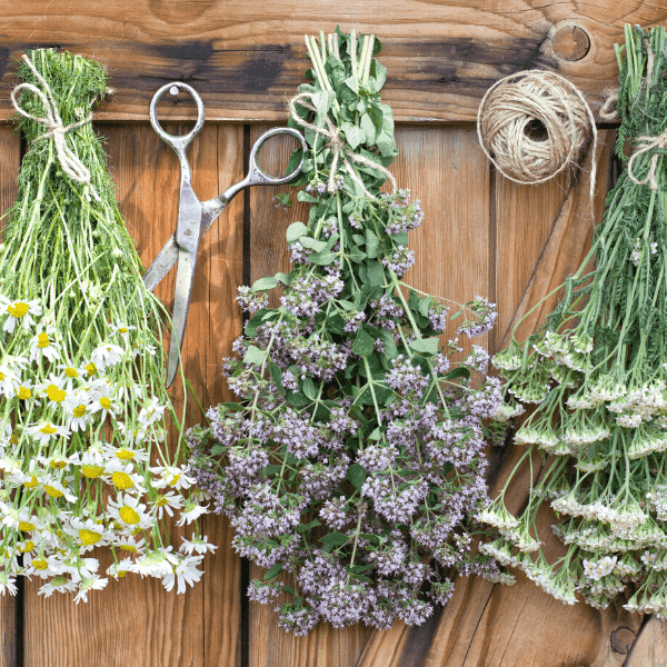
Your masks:
M142 261L148 265L173 232L178 210L179 176L176 157L148 123L104 126L109 138L110 167L118 187L121 211L136 239ZM168 126L168 131L183 128ZM238 173L241 128L208 125L190 149L195 190L202 197L219 192L219 181ZM219 147L222 150L218 150ZM192 295L183 345L185 371L195 392L205 405L218 402L220 384L209 382L211 366L219 364L220 351L240 329L240 313L226 306L227 320L212 319L209 300L228 297L229 285L237 281L238 261L226 266L221 252L237 255L242 202L229 212L202 239L202 256ZM171 310L175 271L158 286L157 293ZM216 310L216 313L218 311ZM175 382L178 386L178 381ZM173 391L178 404L182 389ZM188 412L187 424L198 422L197 409ZM203 666L238 664L239 604L238 558L229 547L227 525L221 519L207 521L213 542L219 544L215 560L207 559L203 583L183 595L166 593L157 580L110 581L92 595L87 605L74 606L68 597L38 598L39 583L27 585L26 665L137 665ZM171 530L180 542L187 529ZM108 566L101 563L101 567ZM130 577L133 575L129 575ZM206 617L205 617L206 615ZM208 621L208 623L207 623ZM215 623L216 627L209 624ZM63 640L62 638L67 638Z

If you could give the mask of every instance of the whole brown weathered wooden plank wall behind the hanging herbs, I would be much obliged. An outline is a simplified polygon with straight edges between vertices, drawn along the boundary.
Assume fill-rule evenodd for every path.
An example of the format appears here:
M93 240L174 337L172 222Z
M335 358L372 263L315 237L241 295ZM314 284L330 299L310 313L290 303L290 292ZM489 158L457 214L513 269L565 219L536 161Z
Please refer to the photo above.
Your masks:
M285 122L286 98L306 67L303 33L340 24L344 31L378 34L389 69L384 99L401 121L392 170L426 212L424 227L412 235L417 265L407 278L450 299L480 293L497 301L500 318L488 339L492 350L501 348L519 313L578 266L591 216L586 179L573 187L563 177L534 188L510 183L489 168L470 122L484 91L504 74L541 67L580 86L597 110L617 74L613 43L621 40L623 23L667 21L664 0L280 6L263 0L0 0L0 70L7 72L0 81L0 119L11 116L12 59L26 48L67 48L108 67L116 92L100 107L96 127L108 138L121 210L147 265L172 232L177 213L176 159L146 122L158 87L181 79L205 98L209 122L190 155L195 190L209 198L239 179L243 151L266 123ZM192 108L182 100L165 115L182 122L192 118ZM600 139L598 216L613 136L601 132ZM13 197L20 148L18 136L0 127L2 208ZM278 172L288 152L275 140L265 147L262 163ZM276 209L275 193L257 188L239 196L202 239L183 357L205 407L228 398L220 366L241 328L236 286L287 266L285 229L306 215L299 206ZM172 280L159 288L166 299ZM492 454L496 467L504 464L498 479L516 454ZM519 505L524 494L516 485L512 500ZM544 520L547 526L549 517ZM277 627L270 609L246 601L245 587L256 570L230 548L227 521L208 518L207 528L220 547L207 557L202 583L186 596L136 577L91 595L88 605L73 606L60 596L38 599L31 583L18 599L0 598L0 667L665 664L661 624L630 616L620 605L605 613L583 604L565 607L521 577L514 588L458 580L451 603L422 628L321 627L293 638ZM550 548L555 552L558 545Z

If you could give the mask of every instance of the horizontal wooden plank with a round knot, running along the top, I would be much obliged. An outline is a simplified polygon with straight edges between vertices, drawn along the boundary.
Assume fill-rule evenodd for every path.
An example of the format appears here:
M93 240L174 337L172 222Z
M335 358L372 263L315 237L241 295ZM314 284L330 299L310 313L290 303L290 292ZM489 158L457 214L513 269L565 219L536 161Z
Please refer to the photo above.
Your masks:
M116 93L100 107L107 120L146 120L152 93L175 79L202 93L209 119L283 120L285 98L303 80L302 36L337 24L384 42L385 101L401 121L474 120L494 81L536 67L568 77L597 110L603 91L617 83L613 44L623 41L624 23L667 20L664 3L631 0L386 0L381 11L344 0L1 0L0 7L0 74L9 72L0 81L0 118L11 115L13 59L54 46L108 68ZM173 119L192 112L185 101L172 107Z

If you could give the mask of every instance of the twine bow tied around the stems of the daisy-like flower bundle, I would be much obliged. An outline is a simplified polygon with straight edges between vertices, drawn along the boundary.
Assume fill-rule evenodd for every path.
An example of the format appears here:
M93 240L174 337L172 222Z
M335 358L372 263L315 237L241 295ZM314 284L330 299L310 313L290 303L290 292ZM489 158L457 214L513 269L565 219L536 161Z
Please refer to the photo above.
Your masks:
M53 93L51 92L51 88L44 81L43 77L37 71L37 68L32 64L32 62L30 61L30 58L28 58L28 56L23 54L23 60L26 61L28 67L32 70L32 73L37 77L37 80L41 83L43 89L47 91L47 94L44 94L39 88L37 88L37 86L33 86L32 83L19 83L19 86L17 86L11 91L11 103L13 104L14 109L19 113L21 113L21 116L24 116L26 118L30 118L31 120L34 120L36 122L47 126L48 131L44 132L43 135L41 135L40 137L38 137L36 139L36 141L41 141L42 139L52 138L53 145L56 146L56 155L58 156L58 161L60 162L62 171L64 171L64 173L67 173L67 176L69 176L69 178L77 181L78 183L84 183L86 186L88 186L93 199L96 199L97 201L101 201L100 196L97 193L97 190L92 187L92 185L90 182L89 169L77 157L77 153L74 153L74 151L68 146L67 140L64 138L64 136L70 130L73 130L76 128L81 127L82 125L86 125L87 122L90 122L92 120L92 111L83 120L73 122L68 126L63 126L62 119L60 118L60 115L58 113L58 104L56 104L56 100L53 99ZM23 90L23 89L30 90L40 99L41 103L43 104L43 107L46 109L44 117L32 116L32 113L28 113L28 111L24 111L23 109L21 109L21 107L19 106L19 102L17 100L17 94L20 90Z

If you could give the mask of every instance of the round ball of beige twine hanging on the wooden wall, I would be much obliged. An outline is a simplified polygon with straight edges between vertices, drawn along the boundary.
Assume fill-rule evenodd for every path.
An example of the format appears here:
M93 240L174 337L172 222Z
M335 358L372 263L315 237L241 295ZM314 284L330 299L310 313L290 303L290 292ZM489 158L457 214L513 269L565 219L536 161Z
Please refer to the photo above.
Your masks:
M584 96L555 72L528 70L497 81L481 100L477 133L486 156L506 178L541 183L577 161L595 118ZM591 167L595 182L595 160Z

